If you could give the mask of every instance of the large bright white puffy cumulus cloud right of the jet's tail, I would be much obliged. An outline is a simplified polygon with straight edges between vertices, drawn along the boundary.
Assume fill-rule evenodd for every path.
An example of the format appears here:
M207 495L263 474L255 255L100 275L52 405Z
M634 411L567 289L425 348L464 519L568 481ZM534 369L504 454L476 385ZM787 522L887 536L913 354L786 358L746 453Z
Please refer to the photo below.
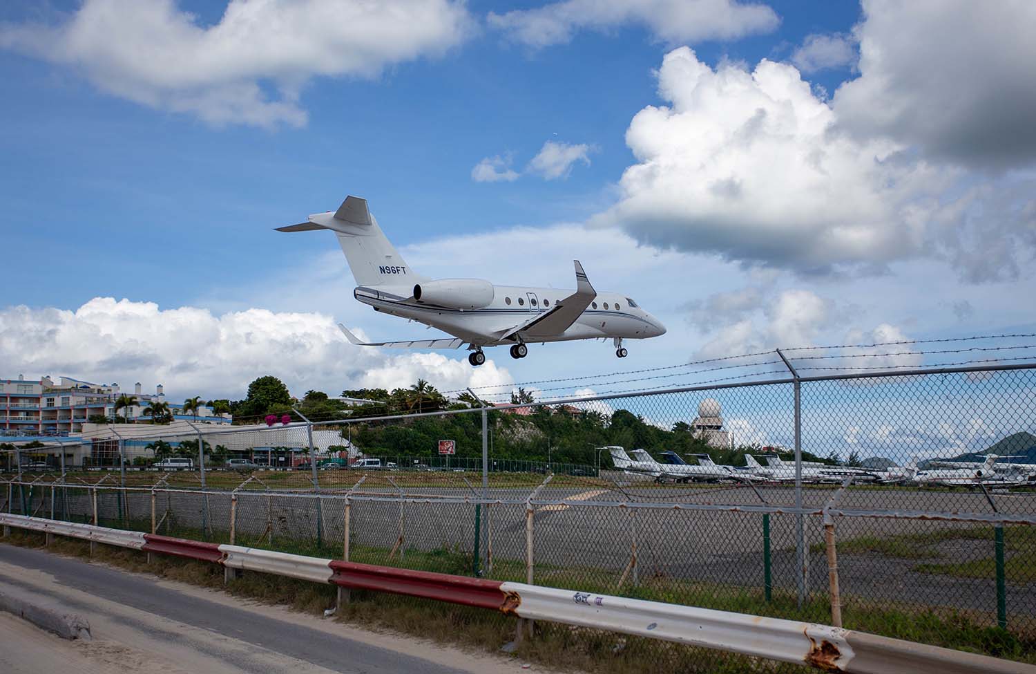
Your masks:
M895 139L845 133L790 64L713 68L683 47L658 81L669 105L634 116L637 163L593 224L801 273L928 256L972 280L1011 278L1036 248L1031 175L989 182Z

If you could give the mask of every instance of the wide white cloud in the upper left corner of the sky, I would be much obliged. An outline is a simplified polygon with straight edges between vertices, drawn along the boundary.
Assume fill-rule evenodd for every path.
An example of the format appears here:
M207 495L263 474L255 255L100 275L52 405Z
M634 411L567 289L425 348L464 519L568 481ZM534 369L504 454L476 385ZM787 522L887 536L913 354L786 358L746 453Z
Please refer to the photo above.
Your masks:
M369 78L439 55L471 23L451 0L231 0L211 26L173 0L85 0L56 24L0 24L0 48L79 68L139 104L269 128L306 123L298 95L311 78Z

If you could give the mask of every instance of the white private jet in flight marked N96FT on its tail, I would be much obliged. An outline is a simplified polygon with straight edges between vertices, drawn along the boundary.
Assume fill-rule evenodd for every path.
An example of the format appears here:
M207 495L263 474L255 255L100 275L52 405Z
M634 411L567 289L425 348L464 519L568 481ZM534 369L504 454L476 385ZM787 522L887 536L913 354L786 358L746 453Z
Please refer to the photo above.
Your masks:
M625 294L597 292L575 261L576 290L493 285L482 279L433 280L416 274L388 242L367 200L347 197L335 213L311 215L307 222L278 231L329 229L338 236L356 281L353 297L395 316L424 324L453 338L363 342L345 326L346 338L359 346L459 348L467 344L471 365L482 365L484 346L510 345L512 358L525 358L529 343L610 338L615 356L626 358L624 339L665 334L655 316Z

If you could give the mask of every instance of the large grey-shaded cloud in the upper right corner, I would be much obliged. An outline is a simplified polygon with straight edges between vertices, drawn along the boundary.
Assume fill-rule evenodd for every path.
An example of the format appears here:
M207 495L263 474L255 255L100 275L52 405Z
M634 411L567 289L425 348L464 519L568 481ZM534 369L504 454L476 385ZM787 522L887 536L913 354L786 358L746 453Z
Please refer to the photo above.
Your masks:
M1036 160L1036 3L865 0L840 125L979 166Z

